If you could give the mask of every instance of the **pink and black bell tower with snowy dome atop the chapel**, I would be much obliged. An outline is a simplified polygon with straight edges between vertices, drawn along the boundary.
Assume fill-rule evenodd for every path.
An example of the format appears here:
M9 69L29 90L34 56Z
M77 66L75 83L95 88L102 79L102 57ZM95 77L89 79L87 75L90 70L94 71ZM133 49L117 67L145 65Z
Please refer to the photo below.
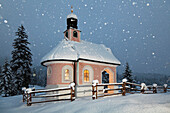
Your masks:
M73 13L73 7L71 7L71 14L67 16L67 30L64 31L64 37L71 41L80 42L80 33L78 30L78 18Z

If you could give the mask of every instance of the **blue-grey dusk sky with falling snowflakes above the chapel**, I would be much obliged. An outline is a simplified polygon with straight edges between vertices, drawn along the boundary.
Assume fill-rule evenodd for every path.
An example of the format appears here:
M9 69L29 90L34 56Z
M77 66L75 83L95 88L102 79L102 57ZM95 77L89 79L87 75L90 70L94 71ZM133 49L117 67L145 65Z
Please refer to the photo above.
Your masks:
M31 43L34 66L66 30L73 6L81 39L102 43L133 72L170 74L170 0L0 0L0 58L11 57L21 24Z

